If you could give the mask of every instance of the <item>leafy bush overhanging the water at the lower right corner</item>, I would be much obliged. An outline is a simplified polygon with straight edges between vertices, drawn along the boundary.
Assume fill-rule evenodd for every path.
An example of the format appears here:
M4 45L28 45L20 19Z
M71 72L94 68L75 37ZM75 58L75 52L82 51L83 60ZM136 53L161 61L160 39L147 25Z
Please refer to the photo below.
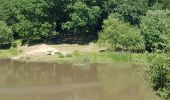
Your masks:
M164 100L170 98L170 56L152 55L149 56L149 78L155 90Z

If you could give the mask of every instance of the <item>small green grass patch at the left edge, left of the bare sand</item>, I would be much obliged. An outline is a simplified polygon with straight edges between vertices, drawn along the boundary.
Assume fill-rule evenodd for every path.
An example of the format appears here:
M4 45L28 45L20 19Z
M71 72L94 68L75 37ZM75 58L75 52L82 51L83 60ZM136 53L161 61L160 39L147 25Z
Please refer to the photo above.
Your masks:
M16 56L20 52L21 51L16 48L11 48L11 49L7 49L7 50L0 49L0 58L8 58L8 57Z

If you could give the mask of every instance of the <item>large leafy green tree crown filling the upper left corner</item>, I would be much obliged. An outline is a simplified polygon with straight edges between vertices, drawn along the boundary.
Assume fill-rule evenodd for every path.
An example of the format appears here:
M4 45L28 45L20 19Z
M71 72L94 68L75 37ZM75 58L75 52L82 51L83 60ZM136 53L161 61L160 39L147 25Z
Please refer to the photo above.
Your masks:
M49 6L46 0L3 1L0 16L12 27L14 37L22 38L25 42L34 41L55 35Z

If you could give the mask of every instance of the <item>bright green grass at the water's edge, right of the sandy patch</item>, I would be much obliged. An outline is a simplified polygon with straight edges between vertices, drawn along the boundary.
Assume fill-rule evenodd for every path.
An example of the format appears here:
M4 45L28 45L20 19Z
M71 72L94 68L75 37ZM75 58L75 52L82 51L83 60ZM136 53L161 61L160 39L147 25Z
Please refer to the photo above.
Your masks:
M113 52L90 52L90 53L73 53L73 60L89 59L89 61L123 61L123 62L143 62L146 54L133 53L113 53Z

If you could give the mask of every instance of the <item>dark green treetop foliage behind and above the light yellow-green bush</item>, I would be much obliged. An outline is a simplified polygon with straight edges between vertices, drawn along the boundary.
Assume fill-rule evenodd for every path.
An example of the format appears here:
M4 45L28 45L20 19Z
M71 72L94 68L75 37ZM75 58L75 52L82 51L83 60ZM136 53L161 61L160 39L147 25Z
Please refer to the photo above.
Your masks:
M131 24L139 24L141 15L149 9L148 0L103 0L102 8L106 14L118 13Z

